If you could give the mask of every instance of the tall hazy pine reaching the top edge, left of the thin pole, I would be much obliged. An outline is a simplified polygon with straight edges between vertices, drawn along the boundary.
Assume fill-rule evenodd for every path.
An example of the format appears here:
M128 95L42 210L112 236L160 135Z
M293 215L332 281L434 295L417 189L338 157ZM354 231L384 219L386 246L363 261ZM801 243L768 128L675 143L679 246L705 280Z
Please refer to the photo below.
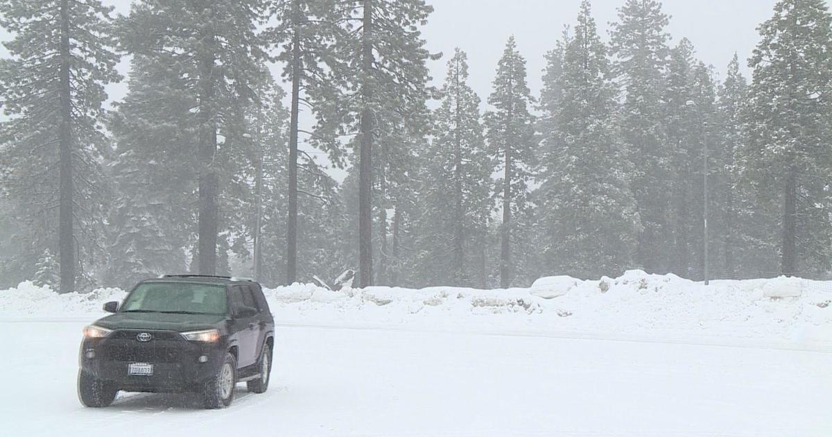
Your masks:
M666 189L671 151L662 135L661 90L669 17L657 0L627 0L618 9L618 19L611 31L611 53L624 93L617 124L636 164L632 190L643 225L636 261L647 271L667 271L672 241L671 191Z

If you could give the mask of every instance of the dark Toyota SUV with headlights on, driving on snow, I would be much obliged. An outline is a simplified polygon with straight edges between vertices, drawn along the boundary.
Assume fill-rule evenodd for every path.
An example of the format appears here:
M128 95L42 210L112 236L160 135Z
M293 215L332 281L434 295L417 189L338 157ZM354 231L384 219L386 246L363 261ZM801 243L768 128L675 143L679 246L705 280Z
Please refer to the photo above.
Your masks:
M83 405L110 405L118 390L193 392L206 408L234 399L237 382L269 387L275 320L260 285L225 276L141 281L114 313L84 329L78 371Z

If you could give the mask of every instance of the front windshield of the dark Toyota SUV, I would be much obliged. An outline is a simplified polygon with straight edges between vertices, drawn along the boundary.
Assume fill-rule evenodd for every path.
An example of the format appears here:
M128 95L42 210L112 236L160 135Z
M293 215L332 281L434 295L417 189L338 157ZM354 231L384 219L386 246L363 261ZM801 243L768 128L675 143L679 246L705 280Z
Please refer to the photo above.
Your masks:
M121 305L121 311L225 314L226 307L224 286L155 282L137 286Z

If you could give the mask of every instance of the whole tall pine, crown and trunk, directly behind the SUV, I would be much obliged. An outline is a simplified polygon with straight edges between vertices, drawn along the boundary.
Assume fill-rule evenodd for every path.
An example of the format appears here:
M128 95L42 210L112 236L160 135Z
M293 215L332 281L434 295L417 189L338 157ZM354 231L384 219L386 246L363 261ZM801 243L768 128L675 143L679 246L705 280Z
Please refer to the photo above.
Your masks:
M252 83L262 74L265 41L257 27L265 21L264 0L165 2L141 0L122 20L122 42L128 52L170 66L196 99L198 149L198 255L199 272L216 271L220 236L220 184L224 148L235 138L222 135L236 125L241 107L256 98ZM225 122L225 123L224 123ZM240 132L236 132L240 134ZM239 138L237 138L239 140Z

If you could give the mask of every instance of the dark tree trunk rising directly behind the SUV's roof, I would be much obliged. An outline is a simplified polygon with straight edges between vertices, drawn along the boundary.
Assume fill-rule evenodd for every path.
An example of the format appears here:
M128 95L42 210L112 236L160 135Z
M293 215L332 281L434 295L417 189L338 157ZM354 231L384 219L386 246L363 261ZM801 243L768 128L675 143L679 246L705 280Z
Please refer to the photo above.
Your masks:
M205 47L199 57L199 261L201 275L216 273L216 242L219 225L219 181L214 169L216 154L216 106L214 104L214 36L206 29Z

